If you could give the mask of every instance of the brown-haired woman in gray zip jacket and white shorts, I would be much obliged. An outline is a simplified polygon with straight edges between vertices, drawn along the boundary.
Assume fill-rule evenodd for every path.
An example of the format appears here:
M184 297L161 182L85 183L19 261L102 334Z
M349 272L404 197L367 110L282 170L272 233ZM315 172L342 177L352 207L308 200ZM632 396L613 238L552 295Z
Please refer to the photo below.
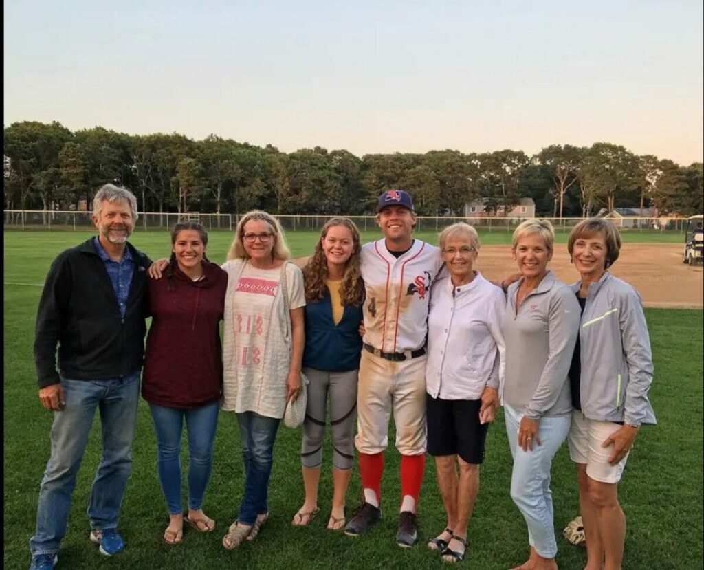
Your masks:
M620 569L626 517L617 484L643 424L655 424L648 401L653 357L641 297L613 277L621 237L601 218L577 224L567 249L582 279L572 285L582 308L570 366L570 457L577 464L586 568Z

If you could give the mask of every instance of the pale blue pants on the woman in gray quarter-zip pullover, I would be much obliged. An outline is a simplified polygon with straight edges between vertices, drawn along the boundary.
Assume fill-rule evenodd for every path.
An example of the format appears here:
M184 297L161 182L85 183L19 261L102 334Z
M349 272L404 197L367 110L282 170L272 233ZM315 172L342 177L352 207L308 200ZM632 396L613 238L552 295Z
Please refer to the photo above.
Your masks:
M528 526L528 543L543 558L554 558L558 553L553 523L553 492L550 489L550 469L553 457L570 432L572 416L543 417L538 436L541 445L524 451L518 445L518 428L523 414L506 405L506 435L513 455L511 498Z

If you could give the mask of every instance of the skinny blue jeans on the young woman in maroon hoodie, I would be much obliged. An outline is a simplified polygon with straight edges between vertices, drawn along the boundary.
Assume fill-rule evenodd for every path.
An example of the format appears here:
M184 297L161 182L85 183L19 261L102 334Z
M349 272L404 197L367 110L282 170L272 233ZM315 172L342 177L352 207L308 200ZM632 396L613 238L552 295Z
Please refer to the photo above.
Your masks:
M181 505L181 433L186 418L188 431L188 506L197 511L203 508L210 471L213 468L213 441L218 426L220 404L180 410L150 404L156 431L156 466L170 514L183 512Z

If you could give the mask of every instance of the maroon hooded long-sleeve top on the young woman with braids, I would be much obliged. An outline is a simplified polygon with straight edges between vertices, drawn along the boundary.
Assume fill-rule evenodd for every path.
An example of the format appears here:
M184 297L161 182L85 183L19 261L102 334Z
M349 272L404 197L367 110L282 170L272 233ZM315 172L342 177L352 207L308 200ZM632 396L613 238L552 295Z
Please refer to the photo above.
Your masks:
M152 321L146 337L142 396L163 407L189 409L220 399L220 319L227 273L203 262L203 279L193 281L178 267L168 277L149 279Z

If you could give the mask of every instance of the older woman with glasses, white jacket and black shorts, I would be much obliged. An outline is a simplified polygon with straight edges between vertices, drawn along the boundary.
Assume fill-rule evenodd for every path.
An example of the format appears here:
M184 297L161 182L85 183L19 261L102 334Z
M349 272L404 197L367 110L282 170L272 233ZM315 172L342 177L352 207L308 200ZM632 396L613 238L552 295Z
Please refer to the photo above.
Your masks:
M503 291L474 270L479 235L469 224L440 234L448 274L433 285L428 315L427 450L435 456L447 526L428 547L460 562L479 491L479 464L503 378ZM459 476L457 465L459 464Z

